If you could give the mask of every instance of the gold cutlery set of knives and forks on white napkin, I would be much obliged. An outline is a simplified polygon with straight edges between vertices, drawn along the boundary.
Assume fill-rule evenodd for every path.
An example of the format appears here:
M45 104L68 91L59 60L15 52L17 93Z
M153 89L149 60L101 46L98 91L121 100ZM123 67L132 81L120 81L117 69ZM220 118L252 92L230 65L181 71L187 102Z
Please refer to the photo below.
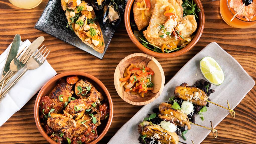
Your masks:
M25 47L18 53L20 40L20 35L15 35L5 63L2 80L0 81L0 101L2 101L10 89L17 84L17 82L28 70L34 70L40 67L50 53L50 50L46 49L44 45L37 51L38 47L45 40L43 36L38 37L31 43L31 45ZM3 88L9 83L10 79L25 66L26 69L17 76L17 78L6 88L5 91L3 91Z

